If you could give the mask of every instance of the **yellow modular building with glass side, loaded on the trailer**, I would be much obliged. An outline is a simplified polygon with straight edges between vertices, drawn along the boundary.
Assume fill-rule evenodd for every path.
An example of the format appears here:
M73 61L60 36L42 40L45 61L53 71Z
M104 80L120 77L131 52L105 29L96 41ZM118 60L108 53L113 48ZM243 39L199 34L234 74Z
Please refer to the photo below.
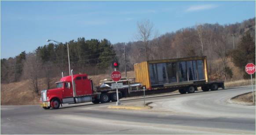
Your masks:
M134 64L134 71L146 89L208 82L205 56L143 61Z

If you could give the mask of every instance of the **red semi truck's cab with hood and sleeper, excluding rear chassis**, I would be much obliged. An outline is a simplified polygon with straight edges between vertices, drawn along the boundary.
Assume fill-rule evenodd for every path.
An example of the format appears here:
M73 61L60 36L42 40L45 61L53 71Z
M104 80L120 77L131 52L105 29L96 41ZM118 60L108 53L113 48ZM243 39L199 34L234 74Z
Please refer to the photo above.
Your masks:
M55 89L41 91L40 104L44 109L58 109L62 103L81 103L92 99L92 81L87 74L73 75L73 78L65 76L55 84Z

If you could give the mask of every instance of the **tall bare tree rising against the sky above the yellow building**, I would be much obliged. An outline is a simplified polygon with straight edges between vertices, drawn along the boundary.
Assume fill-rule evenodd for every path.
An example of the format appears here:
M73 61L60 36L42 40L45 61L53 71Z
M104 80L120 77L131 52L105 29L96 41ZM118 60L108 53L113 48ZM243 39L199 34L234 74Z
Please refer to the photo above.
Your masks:
M153 23L150 20L142 20L137 22L138 34L136 39L142 40L145 46L146 60L149 60L148 44L153 33Z

